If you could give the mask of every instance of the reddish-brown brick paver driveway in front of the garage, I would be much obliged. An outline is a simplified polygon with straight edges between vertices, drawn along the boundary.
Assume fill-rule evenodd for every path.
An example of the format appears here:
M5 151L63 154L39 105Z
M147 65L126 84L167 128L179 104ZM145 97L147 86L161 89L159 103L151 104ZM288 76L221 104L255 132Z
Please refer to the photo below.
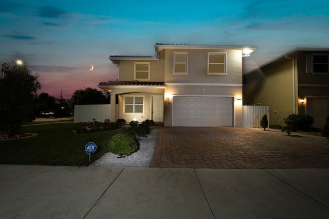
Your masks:
M329 168L328 144L305 137L238 127L159 129L150 167Z

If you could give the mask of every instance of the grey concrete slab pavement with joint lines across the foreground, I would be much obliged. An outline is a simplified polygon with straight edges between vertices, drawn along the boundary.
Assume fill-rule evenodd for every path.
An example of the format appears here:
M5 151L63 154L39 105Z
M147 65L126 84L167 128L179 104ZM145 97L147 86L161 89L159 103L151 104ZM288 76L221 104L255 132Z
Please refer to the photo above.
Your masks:
M0 165L0 218L328 218L329 169Z

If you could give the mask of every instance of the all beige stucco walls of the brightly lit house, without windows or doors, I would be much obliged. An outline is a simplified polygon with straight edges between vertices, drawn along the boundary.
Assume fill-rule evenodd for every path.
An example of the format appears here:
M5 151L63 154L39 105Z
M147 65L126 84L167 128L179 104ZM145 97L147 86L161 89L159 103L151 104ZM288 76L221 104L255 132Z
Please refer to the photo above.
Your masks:
M188 75L173 74L173 52L188 52ZM227 75L207 75L208 52L225 52ZM161 51L159 60L121 60L119 81L134 80L134 63L150 62L150 81L165 81L165 89L139 89L137 95L145 95L145 106L143 114L123 114L122 98L124 94L131 95L132 90L112 88L111 92L111 121L123 118L127 122L136 118L138 121L151 119L149 111L151 107L151 95L161 94L164 96L164 123L172 126L172 96L222 96L233 97L233 125L242 127L242 52L239 49L165 49ZM193 84L193 85L192 85ZM119 104L115 104L115 95L120 94ZM170 98L169 101L166 98Z

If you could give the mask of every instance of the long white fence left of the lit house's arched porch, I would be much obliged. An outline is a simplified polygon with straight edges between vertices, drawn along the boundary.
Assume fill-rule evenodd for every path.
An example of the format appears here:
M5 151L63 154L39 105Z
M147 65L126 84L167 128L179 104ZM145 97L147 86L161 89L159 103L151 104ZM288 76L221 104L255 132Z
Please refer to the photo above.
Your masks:
M74 106L74 123L92 122L96 119L98 122L104 122L111 117L111 104L96 105L75 105Z

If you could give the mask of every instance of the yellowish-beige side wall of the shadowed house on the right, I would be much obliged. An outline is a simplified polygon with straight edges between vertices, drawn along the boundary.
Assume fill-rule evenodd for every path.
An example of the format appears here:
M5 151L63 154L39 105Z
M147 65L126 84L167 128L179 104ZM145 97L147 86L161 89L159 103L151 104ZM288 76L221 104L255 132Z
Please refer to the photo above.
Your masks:
M250 105L269 106L271 124L282 125L284 118L294 113L292 60L282 58L244 77L247 77L247 85L243 86L244 104L249 101Z

